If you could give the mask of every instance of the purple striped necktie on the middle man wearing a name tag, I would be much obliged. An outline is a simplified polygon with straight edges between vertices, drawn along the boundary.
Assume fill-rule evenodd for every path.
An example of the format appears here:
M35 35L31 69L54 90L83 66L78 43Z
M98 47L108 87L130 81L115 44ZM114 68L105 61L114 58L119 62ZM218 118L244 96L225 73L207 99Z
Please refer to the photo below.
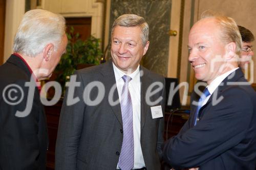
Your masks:
M123 142L118 166L122 170L131 170L134 166L133 106L128 85L132 78L124 75L122 79L124 85L120 106L123 122Z

